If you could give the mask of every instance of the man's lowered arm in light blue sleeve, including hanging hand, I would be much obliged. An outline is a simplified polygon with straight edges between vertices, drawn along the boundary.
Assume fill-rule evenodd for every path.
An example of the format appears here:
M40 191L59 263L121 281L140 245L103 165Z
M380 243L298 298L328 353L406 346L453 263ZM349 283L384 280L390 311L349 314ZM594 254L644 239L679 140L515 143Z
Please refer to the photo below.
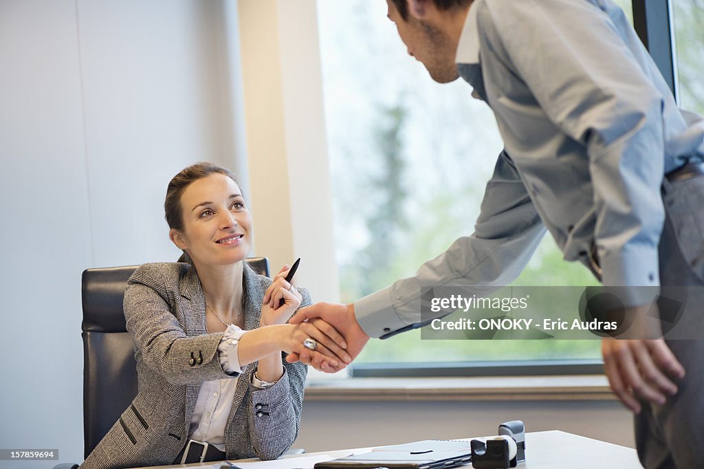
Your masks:
M636 287L621 299L627 313L644 315L650 298L641 298L637 287L660 284L665 218L662 109L672 97L661 92L662 77L640 44L619 35L628 34L622 15L614 20L591 2L482 6L486 45L524 81L548 118L586 146L603 283ZM638 399L662 403L677 392L667 375L684 376L663 339L605 339L602 351L612 388L636 412Z

